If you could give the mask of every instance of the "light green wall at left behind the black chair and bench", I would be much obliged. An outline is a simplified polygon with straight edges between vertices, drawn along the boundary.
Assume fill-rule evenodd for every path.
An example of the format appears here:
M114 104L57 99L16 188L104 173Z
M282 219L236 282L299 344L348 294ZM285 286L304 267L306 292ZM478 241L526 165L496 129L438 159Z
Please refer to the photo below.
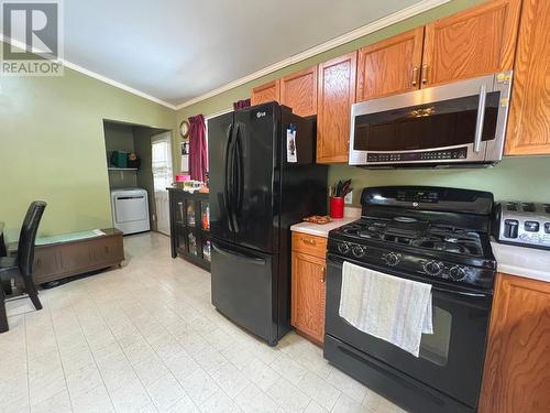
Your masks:
M18 238L33 199L48 206L40 233L111 226L103 119L174 129L164 106L65 69L0 79L0 220Z

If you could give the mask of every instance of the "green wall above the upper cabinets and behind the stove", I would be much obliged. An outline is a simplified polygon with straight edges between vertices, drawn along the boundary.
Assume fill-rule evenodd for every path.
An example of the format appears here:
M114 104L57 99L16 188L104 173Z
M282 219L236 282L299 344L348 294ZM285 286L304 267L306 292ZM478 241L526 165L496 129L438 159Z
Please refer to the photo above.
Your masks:
M278 78L301 68L328 61L359 47L378 42L400 32L422 25L429 21L452 14L457 11L483 2L483 0L454 0L437 9L416 15L406 21L380 30L353 42L316 55L307 61L287 66L268 76L217 95L178 110L178 122L190 116L205 116L231 107L231 104L250 96L250 90L265 81ZM175 142L176 143L176 142ZM331 165L329 181L352 178L355 189L374 185L442 185L491 191L497 199L532 199L550 202L550 157L506 157L495 167L482 170L398 170L367 171L348 165ZM354 191L353 203L359 204L360 191Z

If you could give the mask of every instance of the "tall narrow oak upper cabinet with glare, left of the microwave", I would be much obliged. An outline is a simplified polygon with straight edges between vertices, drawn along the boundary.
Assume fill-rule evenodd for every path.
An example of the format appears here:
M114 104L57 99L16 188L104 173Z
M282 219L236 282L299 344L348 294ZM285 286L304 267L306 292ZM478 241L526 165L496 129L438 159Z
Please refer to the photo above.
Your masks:
M317 162L348 162L358 52L319 65Z

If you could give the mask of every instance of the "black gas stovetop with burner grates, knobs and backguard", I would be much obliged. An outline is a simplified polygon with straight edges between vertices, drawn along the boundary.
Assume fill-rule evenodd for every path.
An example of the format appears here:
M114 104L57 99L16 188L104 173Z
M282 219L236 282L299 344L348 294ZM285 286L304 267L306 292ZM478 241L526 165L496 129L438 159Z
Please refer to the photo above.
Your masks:
M419 205L422 202L415 200L415 196L410 204L417 208L410 209L402 193L389 196L387 188L393 187L381 188L385 191L382 195L373 195L378 188L365 189L363 217L330 231L329 254L383 272L484 290L493 287L496 261L487 233L490 207L484 206L483 214L476 214L472 197L466 196L470 192L455 189L465 198L452 200L457 210L435 210L444 208L446 202L451 204L444 199L450 197L442 192L444 188L437 188L441 191L439 205L433 205L433 195L422 198L425 205ZM383 205L376 205L380 199L384 199ZM462 213L461 203L472 210Z

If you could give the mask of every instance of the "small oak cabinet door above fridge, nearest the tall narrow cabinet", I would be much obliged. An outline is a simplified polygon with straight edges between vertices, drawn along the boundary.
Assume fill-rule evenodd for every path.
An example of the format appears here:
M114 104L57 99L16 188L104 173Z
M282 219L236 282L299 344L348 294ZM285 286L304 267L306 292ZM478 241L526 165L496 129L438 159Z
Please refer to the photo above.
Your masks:
M280 79L280 104L293 108L298 116L317 113L317 66Z

